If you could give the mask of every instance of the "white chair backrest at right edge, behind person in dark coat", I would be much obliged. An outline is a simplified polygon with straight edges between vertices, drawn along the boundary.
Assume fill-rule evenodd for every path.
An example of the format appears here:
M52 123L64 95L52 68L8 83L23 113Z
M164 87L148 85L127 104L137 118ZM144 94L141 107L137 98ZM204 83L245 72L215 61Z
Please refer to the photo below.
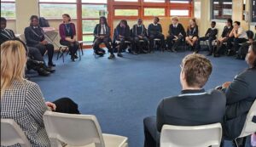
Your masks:
M251 109L247 114L247 120L243 125L239 138L248 136L256 132L256 122L253 122L253 117L256 119L256 100L254 100Z

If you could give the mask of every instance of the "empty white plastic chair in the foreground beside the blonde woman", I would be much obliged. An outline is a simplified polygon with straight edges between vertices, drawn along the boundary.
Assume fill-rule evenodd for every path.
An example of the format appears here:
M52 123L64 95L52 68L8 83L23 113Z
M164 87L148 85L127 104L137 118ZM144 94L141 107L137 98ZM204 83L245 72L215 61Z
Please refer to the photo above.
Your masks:
M44 126L52 147L67 146L128 147L127 138L102 134L96 116L73 115L46 111Z

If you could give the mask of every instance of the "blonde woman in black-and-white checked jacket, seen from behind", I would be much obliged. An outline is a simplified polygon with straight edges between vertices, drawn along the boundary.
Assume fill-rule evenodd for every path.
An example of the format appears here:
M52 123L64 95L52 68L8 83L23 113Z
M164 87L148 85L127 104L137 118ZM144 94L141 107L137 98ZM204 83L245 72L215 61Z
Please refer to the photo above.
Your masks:
M15 120L32 146L49 147L44 112L79 114L78 105L68 98L45 102L38 84L24 79L26 55L26 46L20 40L1 44L1 119Z

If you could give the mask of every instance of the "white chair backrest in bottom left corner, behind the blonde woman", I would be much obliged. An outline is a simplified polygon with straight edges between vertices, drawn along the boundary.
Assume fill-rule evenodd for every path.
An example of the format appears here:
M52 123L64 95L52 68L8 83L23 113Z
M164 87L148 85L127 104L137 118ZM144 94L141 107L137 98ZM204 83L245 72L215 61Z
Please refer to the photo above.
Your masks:
M12 119L1 119L1 146L20 144L24 147L32 146L20 126Z

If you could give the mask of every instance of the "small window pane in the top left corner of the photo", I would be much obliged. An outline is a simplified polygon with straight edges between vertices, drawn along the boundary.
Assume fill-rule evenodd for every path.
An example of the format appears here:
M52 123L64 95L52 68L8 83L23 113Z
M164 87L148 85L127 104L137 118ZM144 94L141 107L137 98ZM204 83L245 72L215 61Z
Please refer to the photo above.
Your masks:
M1 0L1 17L15 19L15 0Z

